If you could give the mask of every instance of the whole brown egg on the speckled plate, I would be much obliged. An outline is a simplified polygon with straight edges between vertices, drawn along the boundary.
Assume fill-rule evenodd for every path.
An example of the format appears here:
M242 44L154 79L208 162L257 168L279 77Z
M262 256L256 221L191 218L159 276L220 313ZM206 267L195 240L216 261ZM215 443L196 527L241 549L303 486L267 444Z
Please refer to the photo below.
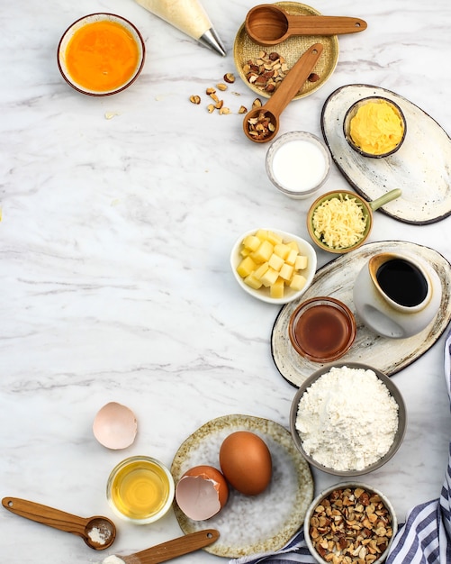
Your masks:
M220 466L230 485L246 496L261 494L271 481L271 453L253 432L232 432L222 442Z

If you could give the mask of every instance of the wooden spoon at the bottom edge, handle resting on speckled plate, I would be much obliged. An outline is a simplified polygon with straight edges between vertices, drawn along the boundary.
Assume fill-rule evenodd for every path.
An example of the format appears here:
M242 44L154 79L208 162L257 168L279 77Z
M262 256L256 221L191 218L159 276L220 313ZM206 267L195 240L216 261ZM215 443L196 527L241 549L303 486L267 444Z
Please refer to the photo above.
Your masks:
M205 529L204 531L191 532L172 541L162 542L150 549L140 550L140 552L135 552L129 556L118 556L116 558L123 560L125 564L159 564L159 562L166 562L166 560L182 554L203 549L203 547L217 541L219 537L220 533L215 529Z

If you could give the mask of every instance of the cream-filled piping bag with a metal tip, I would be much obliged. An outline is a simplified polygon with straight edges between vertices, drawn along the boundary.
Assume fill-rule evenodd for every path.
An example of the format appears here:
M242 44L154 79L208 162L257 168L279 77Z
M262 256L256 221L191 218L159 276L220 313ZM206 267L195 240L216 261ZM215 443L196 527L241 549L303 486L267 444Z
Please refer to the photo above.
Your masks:
M226 55L221 40L199 0L136 0L136 2L205 47L216 51L222 57Z

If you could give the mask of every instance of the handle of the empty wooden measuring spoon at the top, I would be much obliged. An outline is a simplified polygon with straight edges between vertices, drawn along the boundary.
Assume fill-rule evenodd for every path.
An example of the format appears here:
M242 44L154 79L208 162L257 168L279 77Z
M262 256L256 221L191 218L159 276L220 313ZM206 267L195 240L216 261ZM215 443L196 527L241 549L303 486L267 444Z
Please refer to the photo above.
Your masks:
M341 15L287 15L289 35L335 35L363 32L367 24L360 18Z

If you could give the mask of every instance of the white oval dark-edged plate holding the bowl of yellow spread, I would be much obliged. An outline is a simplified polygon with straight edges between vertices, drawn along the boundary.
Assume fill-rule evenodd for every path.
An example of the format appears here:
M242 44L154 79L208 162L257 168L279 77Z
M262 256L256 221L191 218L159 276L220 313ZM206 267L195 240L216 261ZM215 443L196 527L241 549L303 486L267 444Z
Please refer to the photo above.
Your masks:
M384 96L401 107L406 138L392 156L368 159L347 144L343 121L347 109L368 96ZM381 208L403 223L435 223L451 214L451 140L428 114L409 100L378 86L347 85L333 92L322 108L321 129L332 159L360 196L375 200L387 190L402 196Z

